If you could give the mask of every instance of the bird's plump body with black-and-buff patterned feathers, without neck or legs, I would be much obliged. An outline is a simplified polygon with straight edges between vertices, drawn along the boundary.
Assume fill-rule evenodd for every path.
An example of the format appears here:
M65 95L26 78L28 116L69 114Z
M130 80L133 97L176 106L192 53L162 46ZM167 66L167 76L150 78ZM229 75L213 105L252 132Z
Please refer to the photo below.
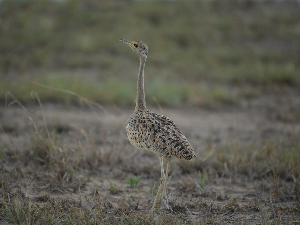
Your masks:
M148 109L135 111L127 120L127 135L130 143L162 156L175 156L190 161L196 157L192 146L168 117Z

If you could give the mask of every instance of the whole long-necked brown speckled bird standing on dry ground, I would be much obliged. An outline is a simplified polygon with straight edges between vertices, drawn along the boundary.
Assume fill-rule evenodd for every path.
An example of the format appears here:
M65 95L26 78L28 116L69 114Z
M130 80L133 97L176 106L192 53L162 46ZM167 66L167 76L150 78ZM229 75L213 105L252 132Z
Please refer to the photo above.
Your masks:
M137 76L137 100L133 114L126 124L129 142L136 148L152 151L159 155L161 177L160 184L150 211L153 211L163 187L162 198L168 209L167 179L171 163L171 156L190 161L197 157L192 146L177 125L168 117L154 113L147 109L144 92L144 67L148 56L148 46L142 41L127 41L120 39L137 53L140 58L140 68ZM163 168L163 157L167 159L166 173Z

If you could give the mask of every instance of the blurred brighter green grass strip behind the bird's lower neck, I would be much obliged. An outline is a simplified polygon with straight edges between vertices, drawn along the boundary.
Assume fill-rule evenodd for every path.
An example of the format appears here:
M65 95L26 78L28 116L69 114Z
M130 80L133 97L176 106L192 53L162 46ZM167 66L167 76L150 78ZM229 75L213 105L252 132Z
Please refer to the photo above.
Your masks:
M0 96L5 97L7 91L13 93L24 103L33 101L30 93L35 91L43 102L81 104L82 97L100 104L135 105L137 80L119 80L111 77L99 82L92 82L79 76L69 77L60 73L49 73L34 82L22 79L3 80L0 83ZM200 83L179 83L176 80L170 82L163 78L145 78L145 92L147 103L152 105L156 105L158 101L159 104L167 106L184 104L216 107L238 102L237 94L228 86L214 85L210 87ZM154 101L153 98L157 101Z

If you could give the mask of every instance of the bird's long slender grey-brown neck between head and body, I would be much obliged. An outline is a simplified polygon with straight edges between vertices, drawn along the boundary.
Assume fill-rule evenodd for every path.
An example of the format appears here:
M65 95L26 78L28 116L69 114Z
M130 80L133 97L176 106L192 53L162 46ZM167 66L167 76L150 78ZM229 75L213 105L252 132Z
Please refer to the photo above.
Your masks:
M140 56L140 69L139 75L137 76L137 104L135 105L135 110L146 109L146 100L144 92L144 67L146 58Z

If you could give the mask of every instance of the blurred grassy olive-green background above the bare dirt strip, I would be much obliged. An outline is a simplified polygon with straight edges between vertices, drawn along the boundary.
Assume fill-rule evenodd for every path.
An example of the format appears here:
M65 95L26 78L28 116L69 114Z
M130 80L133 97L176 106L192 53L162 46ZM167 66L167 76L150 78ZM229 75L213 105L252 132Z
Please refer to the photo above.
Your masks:
M239 105L299 95L299 1L0 1L0 101L135 105L142 40L148 104Z

